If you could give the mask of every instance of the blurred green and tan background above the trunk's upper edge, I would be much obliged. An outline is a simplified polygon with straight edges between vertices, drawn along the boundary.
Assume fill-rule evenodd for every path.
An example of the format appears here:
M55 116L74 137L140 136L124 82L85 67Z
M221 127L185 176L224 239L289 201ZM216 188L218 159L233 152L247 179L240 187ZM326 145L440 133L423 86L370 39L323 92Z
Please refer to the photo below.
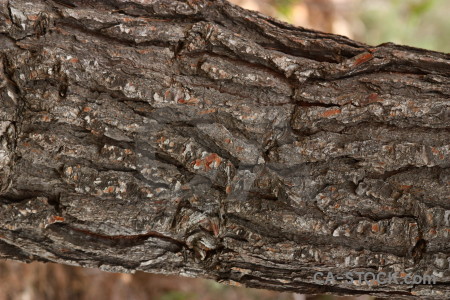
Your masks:
M449 0L231 0L288 23L345 35L450 52Z

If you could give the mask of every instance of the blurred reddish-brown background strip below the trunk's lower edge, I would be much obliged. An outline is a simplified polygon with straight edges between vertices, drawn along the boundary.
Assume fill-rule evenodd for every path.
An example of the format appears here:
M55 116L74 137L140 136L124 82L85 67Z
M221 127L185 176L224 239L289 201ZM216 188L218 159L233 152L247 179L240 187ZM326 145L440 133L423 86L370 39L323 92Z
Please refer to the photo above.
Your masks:
M306 296L227 286L212 280L106 273L57 264L0 262L0 300L374 300Z

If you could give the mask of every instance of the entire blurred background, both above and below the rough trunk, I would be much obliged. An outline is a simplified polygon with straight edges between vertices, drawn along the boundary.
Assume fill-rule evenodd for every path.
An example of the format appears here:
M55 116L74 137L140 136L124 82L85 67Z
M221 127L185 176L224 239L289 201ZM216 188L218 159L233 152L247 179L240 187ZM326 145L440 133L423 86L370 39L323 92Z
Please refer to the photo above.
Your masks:
M395 42L450 52L448 0L232 0L285 22L345 35L371 45ZM56 264L0 261L0 300L258 299L374 300L305 296L231 287L192 278L112 274Z

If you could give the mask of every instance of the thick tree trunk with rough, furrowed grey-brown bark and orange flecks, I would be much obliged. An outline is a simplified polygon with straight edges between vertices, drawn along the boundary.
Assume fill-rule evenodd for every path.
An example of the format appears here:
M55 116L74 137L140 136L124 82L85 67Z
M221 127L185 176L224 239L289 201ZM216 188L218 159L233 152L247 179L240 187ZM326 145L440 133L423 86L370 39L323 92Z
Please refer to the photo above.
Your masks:
M1 257L450 297L449 55L222 0L0 4Z

